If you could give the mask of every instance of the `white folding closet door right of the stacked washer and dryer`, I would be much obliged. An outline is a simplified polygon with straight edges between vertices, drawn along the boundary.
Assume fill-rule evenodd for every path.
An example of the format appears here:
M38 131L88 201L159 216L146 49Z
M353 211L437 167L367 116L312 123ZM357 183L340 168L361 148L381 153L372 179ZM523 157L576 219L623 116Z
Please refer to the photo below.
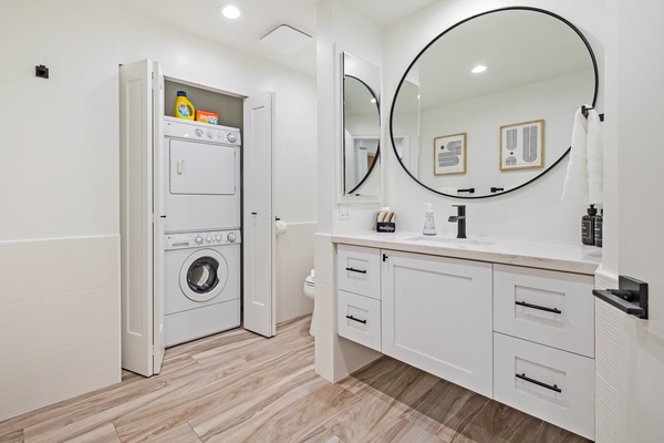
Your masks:
M245 328L264 337L272 337L277 332L272 213L273 102L271 92L245 101L242 146Z

